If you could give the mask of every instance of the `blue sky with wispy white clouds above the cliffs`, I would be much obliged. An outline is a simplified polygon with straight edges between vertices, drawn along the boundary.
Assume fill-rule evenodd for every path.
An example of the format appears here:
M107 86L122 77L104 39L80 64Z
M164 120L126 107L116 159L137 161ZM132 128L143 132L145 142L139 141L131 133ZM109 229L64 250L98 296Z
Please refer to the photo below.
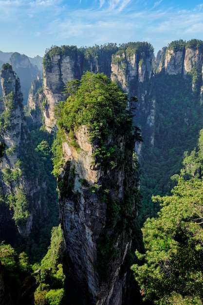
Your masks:
M203 0L0 0L0 51L42 56L52 45L203 40Z

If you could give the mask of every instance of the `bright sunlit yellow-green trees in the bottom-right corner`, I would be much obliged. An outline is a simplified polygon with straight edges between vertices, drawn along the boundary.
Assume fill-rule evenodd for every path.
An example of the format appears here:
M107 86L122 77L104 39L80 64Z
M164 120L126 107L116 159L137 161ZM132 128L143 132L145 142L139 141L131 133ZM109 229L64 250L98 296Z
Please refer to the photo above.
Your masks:
M185 153L171 196L153 196L162 206L142 231L146 253L133 265L144 300L154 304L203 302L203 130L198 149ZM177 175L178 178L178 175ZM188 180L189 179L189 180Z

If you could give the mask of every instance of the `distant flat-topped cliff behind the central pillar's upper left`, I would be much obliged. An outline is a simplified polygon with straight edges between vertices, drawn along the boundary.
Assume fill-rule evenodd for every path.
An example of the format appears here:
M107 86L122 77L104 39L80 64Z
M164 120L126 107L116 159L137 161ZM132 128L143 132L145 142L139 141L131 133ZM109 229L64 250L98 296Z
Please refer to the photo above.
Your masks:
M111 75L111 55L117 51L116 44L77 49L76 46L53 46L43 58L43 101L41 104L43 123L47 131L54 132L55 105L67 96L63 94L67 81L80 79L84 71L103 72ZM32 96L29 97L29 103ZM32 106L32 109L35 107ZM34 114L34 113L33 113Z

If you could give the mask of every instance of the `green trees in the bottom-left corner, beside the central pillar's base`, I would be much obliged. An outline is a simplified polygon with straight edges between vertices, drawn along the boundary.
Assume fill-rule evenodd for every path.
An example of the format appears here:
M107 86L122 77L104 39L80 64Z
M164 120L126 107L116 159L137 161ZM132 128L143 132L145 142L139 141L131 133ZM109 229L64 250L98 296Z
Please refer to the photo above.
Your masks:
M60 225L52 228L47 254L34 265L30 264L25 252L19 253L11 245L2 242L0 268L5 275L3 280L7 289L6 304L67 304L63 253L64 244ZM30 286L26 286L28 281ZM2 300L2 296L0 299Z

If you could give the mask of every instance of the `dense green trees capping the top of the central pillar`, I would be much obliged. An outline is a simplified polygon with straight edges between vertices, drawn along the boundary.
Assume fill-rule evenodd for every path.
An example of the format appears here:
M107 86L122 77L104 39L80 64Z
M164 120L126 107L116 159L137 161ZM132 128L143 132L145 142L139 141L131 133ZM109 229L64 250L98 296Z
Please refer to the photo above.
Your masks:
M64 129L70 138L69 145L77 148L74 130L81 125L89 128L97 164L115 166L123 160L122 150L108 142L109 137L123 133L131 136L132 120L127 110L128 97L103 74L86 72L80 81L67 84L70 94L66 102L56 107L58 127ZM60 132L60 131L59 131ZM140 140L135 129L134 140ZM61 137L58 137L60 142ZM133 137L132 137L133 141ZM134 141L133 141L134 142ZM60 143L59 143L60 144ZM56 146L57 147L57 146ZM60 146L61 147L61 146ZM62 151L55 148L54 172L57 174Z

